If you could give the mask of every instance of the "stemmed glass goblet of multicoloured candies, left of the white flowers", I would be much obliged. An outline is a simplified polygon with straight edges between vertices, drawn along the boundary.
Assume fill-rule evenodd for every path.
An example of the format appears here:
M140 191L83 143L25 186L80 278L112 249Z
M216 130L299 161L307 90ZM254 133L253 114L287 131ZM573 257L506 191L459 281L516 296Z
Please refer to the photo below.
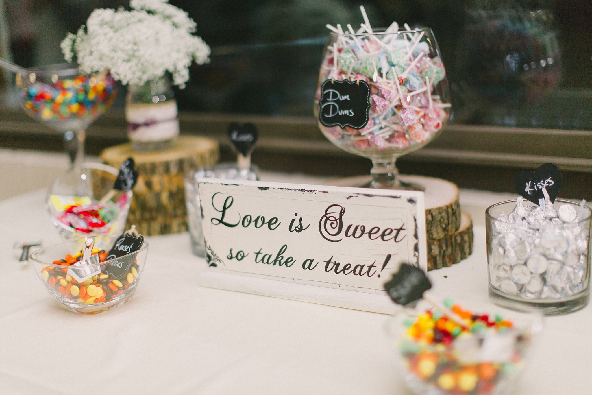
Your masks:
M42 66L17 73L18 99L34 120L64 133L73 166L83 162L85 130L117 95L108 72L80 75L71 64Z

